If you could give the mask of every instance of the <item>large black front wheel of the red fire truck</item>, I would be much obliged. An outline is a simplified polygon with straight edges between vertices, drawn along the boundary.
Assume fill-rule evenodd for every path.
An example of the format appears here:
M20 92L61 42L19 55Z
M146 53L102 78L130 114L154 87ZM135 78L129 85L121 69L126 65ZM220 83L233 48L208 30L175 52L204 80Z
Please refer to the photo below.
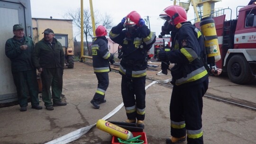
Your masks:
M234 55L228 63L229 79L237 84L248 84L254 80L249 64L243 55Z

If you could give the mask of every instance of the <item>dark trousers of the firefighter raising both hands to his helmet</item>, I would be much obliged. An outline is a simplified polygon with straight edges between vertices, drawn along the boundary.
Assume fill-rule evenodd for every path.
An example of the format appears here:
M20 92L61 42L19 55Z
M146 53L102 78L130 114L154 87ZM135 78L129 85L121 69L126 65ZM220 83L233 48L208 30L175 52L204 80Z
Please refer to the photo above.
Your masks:
M126 76L122 76L121 92L125 108L136 106L139 109L146 108L146 77L135 78L132 81ZM126 113L128 119L144 120L144 114L138 114L137 111Z

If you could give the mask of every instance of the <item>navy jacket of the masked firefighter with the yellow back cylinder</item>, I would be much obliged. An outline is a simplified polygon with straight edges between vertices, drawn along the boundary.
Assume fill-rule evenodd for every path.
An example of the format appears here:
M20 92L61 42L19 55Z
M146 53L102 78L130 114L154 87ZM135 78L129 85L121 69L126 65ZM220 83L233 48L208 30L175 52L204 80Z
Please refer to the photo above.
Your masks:
M177 31L174 50L167 52L176 85L197 81L208 74L202 62L204 41L201 32L191 24L182 25Z

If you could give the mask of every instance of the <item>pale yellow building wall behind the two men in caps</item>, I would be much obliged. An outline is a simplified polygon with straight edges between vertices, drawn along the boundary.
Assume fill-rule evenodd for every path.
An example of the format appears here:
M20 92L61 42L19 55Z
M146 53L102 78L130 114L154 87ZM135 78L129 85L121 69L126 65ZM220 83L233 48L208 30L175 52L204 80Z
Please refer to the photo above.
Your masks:
M67 34L68 46L74 47L72 22L71 19L32 18L34 43L44 38L42 33L46 28L51 28L55 34Z

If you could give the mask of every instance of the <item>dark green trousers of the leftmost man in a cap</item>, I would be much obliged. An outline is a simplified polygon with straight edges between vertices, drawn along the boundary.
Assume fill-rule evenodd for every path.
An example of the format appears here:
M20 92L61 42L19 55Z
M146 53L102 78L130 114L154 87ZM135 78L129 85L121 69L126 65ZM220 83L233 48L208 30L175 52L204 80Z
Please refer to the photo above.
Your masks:
M28 95L31 98L32 106L39 105L37 70L12 72L12 76L17 89L19 106L27 106Z

